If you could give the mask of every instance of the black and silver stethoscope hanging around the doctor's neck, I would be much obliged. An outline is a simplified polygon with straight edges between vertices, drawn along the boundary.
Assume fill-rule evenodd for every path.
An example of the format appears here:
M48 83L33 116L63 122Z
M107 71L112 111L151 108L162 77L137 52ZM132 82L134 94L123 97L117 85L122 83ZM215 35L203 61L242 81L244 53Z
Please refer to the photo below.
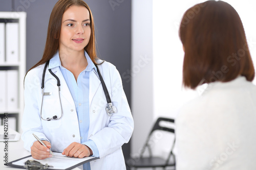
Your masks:
M42 83L41 83L41 89L42 89L42 103L41 103L41 111L40 111L40 117L42 120L58 120L60 119L62 116L63 116L63 110L62 110L62 105L61 105L61 100L60 100L60 81L59 81L59 78L52 72L51 69L48 69L50 74L57 80L57 86L58 86L58 93L59 93L59 102L60 102L60 108L61 108L61 116L58 117L57 115L53 116L53 117L48 117L48 118L43 118L42 117L42 104L43 104L43 101L44 101L44 95L50 95L49 92L45 92L45 75L46 75L46 69L49 65L49 61L46 62L46 65L44 67L44 71L42 72ZM111 99L110 99L110 94L109 94L109 91L108 89L106 88L106 85L105 85L105 82L100 74L100 71L99 71L99 68L97 65L95 65L96 68L97 68L97 71L98 71L98 75L99 75L99 79L100 79L100 82L102 84L102 87L103 87L103 90L104 90L104 93L105 93L105 97L106 97L106 101L108 102L108 104L106 105L106 113L109 115L109 116L112 116L113 113L116 113L117 112L117 109L115 106L113 106L112 102L111 102Z

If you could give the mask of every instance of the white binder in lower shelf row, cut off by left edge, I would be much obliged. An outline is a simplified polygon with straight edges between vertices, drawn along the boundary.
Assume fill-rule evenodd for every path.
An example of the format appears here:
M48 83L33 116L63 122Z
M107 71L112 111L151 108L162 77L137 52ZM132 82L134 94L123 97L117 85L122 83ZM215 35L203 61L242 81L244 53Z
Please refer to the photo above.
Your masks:
M7 71L0 70L0 113L7 111Z

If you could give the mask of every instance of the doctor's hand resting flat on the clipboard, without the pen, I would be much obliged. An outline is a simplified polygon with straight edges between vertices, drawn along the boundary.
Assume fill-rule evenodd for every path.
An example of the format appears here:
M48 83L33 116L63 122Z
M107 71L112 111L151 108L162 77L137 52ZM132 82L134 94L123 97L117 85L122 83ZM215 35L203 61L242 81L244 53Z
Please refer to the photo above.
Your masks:
M87 147L87 145L73 142L71 143L64 151L62 155L66 155L69 157L83 158L93 155L92 150Z

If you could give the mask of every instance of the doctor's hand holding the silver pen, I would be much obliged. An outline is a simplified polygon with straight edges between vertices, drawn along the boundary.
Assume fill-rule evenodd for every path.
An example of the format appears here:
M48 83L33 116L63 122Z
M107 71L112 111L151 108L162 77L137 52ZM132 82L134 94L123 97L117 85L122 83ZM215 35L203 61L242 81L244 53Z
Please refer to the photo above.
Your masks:
M46 140L42 140L47 145L47 148L39 141L35 141L31 147L31 155L34 159L45 159L52 157L50 154L51 143Z

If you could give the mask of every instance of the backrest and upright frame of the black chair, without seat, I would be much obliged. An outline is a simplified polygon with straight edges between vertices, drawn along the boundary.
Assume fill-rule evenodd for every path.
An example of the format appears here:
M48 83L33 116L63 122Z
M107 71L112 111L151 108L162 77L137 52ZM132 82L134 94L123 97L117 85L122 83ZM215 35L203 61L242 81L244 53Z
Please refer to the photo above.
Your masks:
M148 148L148 151L150 152L150 156L152 156L152 151L151 151L151 147L150 145L148 144L148 142L150 141L151 139L151 136L153 134L154 131L156 130L161 130L161 131L167 131L167 132L170 132L170 133L174 133L175 134L175 130L174 128L169 128L169 127L166 127L166 126L162 126L164 124L161 125L161 121L164 121L164 122L169 122L169 123L172 123L174 124L175 123L175 120L172 119L172 118L164 118L164 117L159 117L157 120L156 120L156 123L154 125L154 127L152 128L150 134L148 135L147 139L146 139L146 142L141 150L141 153L140 153L140 157L142 157L143 153L145 152L145 149L146 147ZM175 138L174 138L174 142L175 142ZM168 154L168 158L170 158L170 156L173 154L172 151L173 151L173 147L174 147L174 142L173 142L173 145L172 145L172 148L171 148L171 151L170 153Z

